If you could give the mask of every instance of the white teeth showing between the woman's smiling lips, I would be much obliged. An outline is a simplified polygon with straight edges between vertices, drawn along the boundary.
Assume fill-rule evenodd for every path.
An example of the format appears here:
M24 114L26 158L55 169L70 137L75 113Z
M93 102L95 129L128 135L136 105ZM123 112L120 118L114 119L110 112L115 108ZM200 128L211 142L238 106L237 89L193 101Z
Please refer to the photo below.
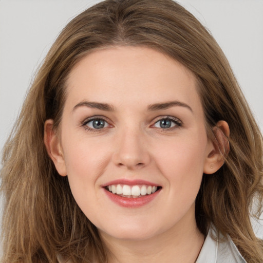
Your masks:
M138 198L147 195L154 194L159 191L161 186L151 186L151 185L127 185L127 184L112 184L105 187L107 191L112 194L116 194L127 198Z

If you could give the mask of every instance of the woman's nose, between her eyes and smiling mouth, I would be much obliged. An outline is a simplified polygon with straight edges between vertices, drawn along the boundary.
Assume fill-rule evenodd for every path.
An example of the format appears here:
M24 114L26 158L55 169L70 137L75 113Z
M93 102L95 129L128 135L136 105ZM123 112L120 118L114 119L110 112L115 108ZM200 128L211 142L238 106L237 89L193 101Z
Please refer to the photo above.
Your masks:
M116 144L113 161L119 167L136 170L145 167L151 160L148 145L142 133L126 130L118 135Z

